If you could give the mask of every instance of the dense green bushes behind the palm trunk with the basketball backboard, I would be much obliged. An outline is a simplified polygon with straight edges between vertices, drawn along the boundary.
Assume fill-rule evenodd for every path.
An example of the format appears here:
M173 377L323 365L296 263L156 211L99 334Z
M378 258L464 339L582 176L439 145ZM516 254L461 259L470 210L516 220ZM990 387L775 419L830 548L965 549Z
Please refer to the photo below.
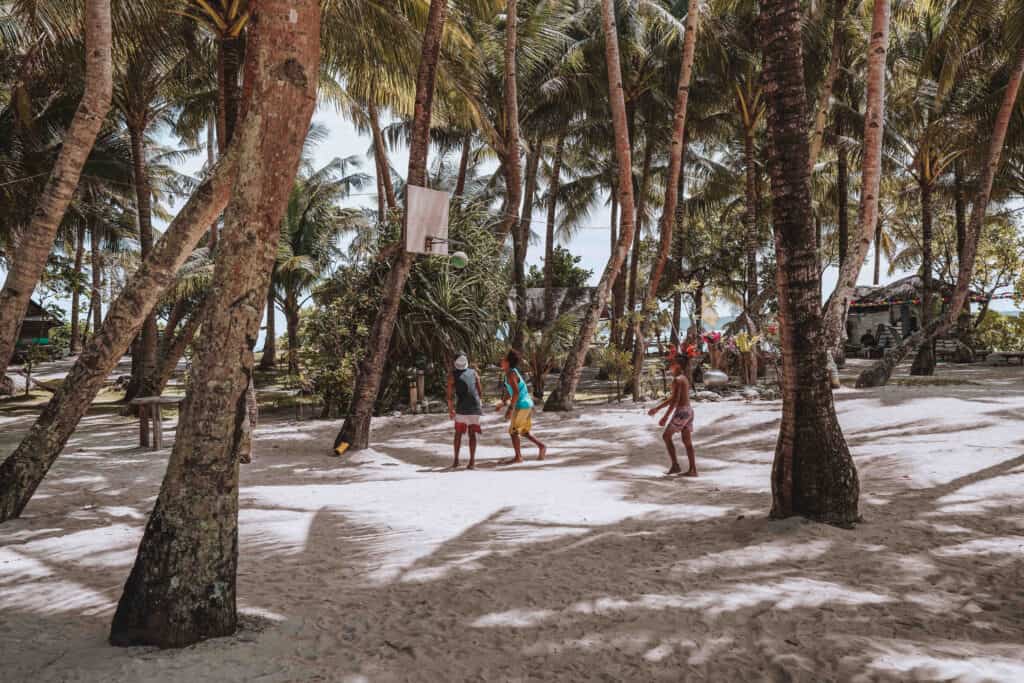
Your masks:
M478 362L497 357L507 289L495 273L504 272L506 264L488 222L482 205L453 206L449 232L469 256L465 268L452 268L443 258L418 257L398 309L382 407L400 400L404 370L424 359L430 370L446 367L459 349ZM395 227L388 224L383 231L394 236ZM388 268L377 258L339 268L315 292L315 308L304 316L300 356L328 415L344 413L351 400Z

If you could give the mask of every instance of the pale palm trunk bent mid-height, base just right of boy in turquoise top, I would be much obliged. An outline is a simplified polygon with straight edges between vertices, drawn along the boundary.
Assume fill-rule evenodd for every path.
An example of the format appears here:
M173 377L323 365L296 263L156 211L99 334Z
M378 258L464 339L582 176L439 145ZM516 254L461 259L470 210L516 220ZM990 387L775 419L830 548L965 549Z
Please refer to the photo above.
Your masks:
M611 106L611 123L615 131L615 161L618 165L618 201L622 204L622 230L618 242L608 257L604 272L594 292L583 325L577 335L572 349L565 357L565 365L558 377L558 387L551 392L544 404L546 411L570 411L575 401L575 390L580 384L587 351L597 330L601 310L607 304L608 292L622 269L626 252L633 241L635 224L633 208L633 160L630 154L630 133L626 120L626 97L623 92L623 75L618 57L618 34L615 29L613 0L601 0L601 18L604 28L604 58L608 69L608 93Z

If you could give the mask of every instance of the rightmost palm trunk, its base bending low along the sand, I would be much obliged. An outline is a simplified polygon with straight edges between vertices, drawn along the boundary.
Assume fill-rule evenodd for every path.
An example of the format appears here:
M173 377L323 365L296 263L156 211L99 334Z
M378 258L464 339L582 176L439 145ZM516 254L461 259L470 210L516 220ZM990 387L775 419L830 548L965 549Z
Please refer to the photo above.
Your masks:
M956 287L953 288L952 297L945 313L933 321L929 326L923 326L921 330L910 335L903 342L886 351L885 355L876 365L865 369L857 377L858 387L882 386L892 377L893 370L909 353L913 353L922 344L931 344L939 335L944 334L956 322L961 310L967 303L968 293L971 288L971 276L974 272L974 261L978 256L978 241L981 239L981 230L985 223L985 214L988 211L988 202L992 196L992 183L995 174L999 169L999 162L1002 157L1002 146L1007 139L1007 130L1010 128L1010 121L1014 115L1014 106L1020 92L1021 81L1024 80L1024 42L1015 55L1013 71L1010 73L1010 80L1007 89L1002 93L1002 102L995 116L995 123L992 126L992 137L988 142L988 151L985 155L985 165L981 169L981 179L978 183L978 193L974 198L974 205L971 208L971 220L967 226L967 234L964 239L964 246L959 259L959 270L956 275Z

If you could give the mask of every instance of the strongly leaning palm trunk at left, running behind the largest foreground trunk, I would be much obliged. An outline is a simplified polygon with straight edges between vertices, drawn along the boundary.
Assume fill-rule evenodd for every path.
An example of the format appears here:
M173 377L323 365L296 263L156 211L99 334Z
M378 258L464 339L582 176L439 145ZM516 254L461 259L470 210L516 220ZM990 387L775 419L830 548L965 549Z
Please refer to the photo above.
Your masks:
M224 210L234 181L237 158L237 154L224 157L174 217L153 254L111 303L106 317L94 328L92 338L29 434L0 465L0 522L18 516L25 509L146 315L174 282L178 268L210 222ZM92 234L95 238L95 229ZM93 245L94 254L98 242Z

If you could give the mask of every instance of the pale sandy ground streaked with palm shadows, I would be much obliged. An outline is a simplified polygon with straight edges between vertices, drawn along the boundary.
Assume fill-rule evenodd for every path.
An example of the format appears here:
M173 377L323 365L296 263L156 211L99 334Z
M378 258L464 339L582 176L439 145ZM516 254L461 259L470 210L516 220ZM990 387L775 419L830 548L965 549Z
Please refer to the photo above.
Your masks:
M233 637L105 644L168 450L88 418L0 526L3 681L1022 681L1024 371L837 392L864 522L770 521L778 402L697 405L701 476L665 478L624 402L541 415L550 461L476 472L450 424L264 419L242 470ZM29 412L0 413L0 453Z

